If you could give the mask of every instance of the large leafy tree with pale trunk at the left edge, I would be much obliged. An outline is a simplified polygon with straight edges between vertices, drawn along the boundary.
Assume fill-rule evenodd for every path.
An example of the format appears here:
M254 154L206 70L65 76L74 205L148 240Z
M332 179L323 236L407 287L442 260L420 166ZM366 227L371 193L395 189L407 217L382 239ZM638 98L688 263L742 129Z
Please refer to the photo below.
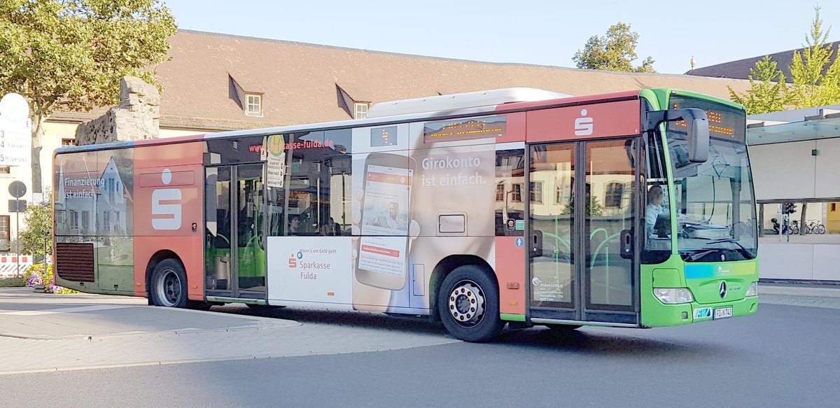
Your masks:
M155 83L175 19L159 0L3 0L0 92L29 102L32 191L41 192L41 132L56 110L113 105L119 80Z

